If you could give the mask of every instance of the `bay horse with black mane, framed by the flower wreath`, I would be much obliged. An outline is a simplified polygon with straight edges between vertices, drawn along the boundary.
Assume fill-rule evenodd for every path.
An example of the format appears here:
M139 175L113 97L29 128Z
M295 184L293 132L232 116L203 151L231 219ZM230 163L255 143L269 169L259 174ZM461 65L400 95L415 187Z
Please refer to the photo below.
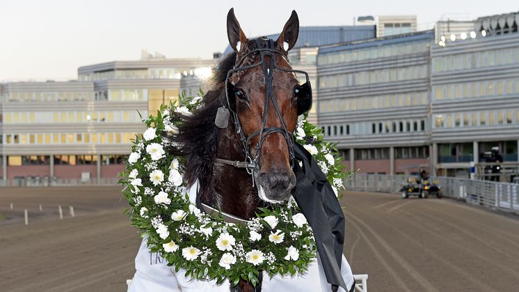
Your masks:
M308 75L293 70L289 49L296 45L295 11L277 40L248 39L231 8L227 38L233 51L214 68L202 106L172 138L170 152L186 157L184 180L200 186L201 203L244 220L259 206L286 201L296 185L292 171L298 115L311 107ZM299 84L302 73L307 83ZM234 291L260 291L240 280Z

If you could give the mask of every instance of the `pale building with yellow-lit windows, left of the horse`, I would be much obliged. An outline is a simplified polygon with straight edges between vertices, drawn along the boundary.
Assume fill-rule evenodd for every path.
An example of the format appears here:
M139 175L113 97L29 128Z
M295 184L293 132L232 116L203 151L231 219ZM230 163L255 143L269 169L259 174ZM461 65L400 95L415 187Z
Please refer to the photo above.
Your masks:
M1 177L11 184L116 178L141 115L196 94L213 60L144 59L84 66L78 81L1 84Z

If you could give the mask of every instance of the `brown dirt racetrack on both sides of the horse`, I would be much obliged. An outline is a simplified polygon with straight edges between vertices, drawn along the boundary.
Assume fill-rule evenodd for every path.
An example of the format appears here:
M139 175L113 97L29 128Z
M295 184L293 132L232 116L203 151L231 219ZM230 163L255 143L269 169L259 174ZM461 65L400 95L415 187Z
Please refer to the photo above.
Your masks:
M0 189L0 213L10 218L0 221L0 291L125 291L140 240L122 215L127 203L119 201L119 191ZM343 204L344 254L353 272L369 274L369 292L518 291L514 217L449 199L393 194L347 192Z

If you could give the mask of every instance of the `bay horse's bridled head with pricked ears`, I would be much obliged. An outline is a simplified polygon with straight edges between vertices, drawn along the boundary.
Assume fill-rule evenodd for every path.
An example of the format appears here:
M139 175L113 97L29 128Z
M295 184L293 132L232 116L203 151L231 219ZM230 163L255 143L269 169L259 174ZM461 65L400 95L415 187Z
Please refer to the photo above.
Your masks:
M298 115L311 106L308 75L293 70L288 61L298 31L295 11L277 40L248 39L234 10L227 15L227 37L237 56L227 74L227 104L234 114L246 159L254 165L251 174L259 198L270 203L286 200L296 185L292 133ZM301 85L296 74L305 76L307 82Z

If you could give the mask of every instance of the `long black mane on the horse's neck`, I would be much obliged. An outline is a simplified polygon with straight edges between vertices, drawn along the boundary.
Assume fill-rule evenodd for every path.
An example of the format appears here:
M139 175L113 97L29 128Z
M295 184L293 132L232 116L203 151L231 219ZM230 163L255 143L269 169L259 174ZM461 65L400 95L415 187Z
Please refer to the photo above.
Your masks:
M173 145L168 151L186 159L184 179L192 185L198 179L200 187L208 187L211 180L212 157L216 153L218 128L214 118L218 107L227 105L225 98L225 79L227 72L234 67L236 53L228 54L213 68L210 79L211 89L205 93L202 106L193 111L193 116L182 116L184 123L179 126L179 134L170 137ZM172 116L172 118L176 118Z

